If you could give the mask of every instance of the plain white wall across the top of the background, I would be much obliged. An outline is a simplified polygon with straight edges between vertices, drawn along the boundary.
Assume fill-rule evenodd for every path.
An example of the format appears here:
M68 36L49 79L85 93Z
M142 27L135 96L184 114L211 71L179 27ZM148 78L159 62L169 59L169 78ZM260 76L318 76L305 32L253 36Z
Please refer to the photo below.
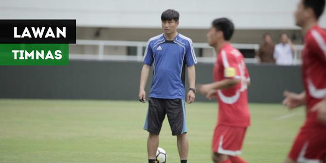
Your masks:
M1 19L72 18L77 26L160 28L161 13L174 8L180 28L206 29L228 17L237 29L296 29L299 0L1 0ZM326 16L321 18L326 28Z

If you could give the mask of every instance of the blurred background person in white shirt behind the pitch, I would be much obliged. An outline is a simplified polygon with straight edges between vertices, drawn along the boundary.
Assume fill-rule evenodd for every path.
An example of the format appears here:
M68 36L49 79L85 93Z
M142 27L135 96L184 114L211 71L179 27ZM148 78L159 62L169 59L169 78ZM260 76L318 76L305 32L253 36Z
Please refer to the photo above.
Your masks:
M276 65L292 65L293 63L293 44L287 34L282 34L280 43L275 45L274 48L274 59Z

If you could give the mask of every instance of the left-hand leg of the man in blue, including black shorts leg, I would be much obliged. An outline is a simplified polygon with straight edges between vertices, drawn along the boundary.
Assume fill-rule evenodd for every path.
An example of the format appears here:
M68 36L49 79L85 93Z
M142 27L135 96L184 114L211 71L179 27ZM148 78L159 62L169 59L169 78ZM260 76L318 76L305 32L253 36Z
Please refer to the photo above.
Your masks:
M147 139L147 155L149 163L154 163L156 160L156 151L159 146L159 134L165 117L163 106L162 99L148 99L148 111L144 129L149 132Z

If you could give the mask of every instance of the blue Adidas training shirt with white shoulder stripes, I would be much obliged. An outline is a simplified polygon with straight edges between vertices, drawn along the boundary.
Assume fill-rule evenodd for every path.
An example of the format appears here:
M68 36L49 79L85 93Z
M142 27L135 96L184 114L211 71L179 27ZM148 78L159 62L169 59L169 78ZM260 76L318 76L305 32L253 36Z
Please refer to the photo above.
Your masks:
M173 41L164 34L148 40L144 60L153 65L153 81L149 97L184 99L185 66L197 63L192 40L178 34Z

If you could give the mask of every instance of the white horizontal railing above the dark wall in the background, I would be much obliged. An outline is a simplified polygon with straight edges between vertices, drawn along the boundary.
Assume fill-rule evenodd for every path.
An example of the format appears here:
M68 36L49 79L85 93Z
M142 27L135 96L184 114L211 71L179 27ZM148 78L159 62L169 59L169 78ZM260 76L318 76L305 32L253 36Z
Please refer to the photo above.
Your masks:
M70 60L115 60L115 61L138 61L141 62L143 59L143 48L146 46L147 42L143 41L116 41L116 40L85 40L77 39L76 44L70 44L70 46L76 45L92 45L97 46L98 54L69 54ZM237 49L252 49L255 52L259 49L259 44L232 44ZM122 46L122 47L137 47L136 55L116 55L116 54L104 54L105 46ZM194 43L194 48L204 48L213 49L207 43ZM294 45L294 63L301 64L301 51L303 45ZM199 62L204 63L214 63L216 58L216 53L212 50L212 57L197 57ZM245 58L246 63L257 63L256 58Z

